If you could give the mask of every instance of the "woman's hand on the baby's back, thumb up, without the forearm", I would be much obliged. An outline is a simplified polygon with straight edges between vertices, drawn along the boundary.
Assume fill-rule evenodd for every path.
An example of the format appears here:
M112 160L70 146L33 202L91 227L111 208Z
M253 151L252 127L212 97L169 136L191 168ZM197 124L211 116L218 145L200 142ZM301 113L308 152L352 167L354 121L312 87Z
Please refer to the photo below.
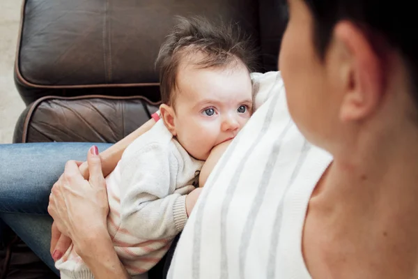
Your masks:
M87 160L91 174L89 181L79 170L81 163L68 161L63 175L52 188L48 206L48 212L54 218L53 229L70 237L77 253L83 252L84 246L98 232L107 232L109 204L96 146L88 152Z

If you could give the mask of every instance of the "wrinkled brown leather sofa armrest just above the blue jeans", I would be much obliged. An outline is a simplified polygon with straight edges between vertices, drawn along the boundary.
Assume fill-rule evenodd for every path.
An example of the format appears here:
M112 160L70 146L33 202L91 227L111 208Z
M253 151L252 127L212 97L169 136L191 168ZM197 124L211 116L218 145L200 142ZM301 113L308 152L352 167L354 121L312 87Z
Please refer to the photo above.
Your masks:
M118 142L157 109L141 96L46 96L22 112L13 142Z

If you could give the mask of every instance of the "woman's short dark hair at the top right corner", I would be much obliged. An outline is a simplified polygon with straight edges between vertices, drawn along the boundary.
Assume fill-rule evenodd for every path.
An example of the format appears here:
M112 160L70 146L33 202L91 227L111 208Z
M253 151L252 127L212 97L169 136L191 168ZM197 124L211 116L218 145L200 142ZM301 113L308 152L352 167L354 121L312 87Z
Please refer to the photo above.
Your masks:
M314 17L314 43L320 58L325 56L335 24L341 20L350 20L365 31L378 53L383 43L401 54L410 75L415 103L418 105L415 1L304 0L304 3Z

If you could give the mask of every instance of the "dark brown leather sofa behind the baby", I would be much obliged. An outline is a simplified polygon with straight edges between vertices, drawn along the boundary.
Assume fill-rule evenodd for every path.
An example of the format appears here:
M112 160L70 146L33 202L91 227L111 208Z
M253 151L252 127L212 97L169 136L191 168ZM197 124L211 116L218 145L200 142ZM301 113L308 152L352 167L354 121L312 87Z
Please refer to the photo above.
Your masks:
M286 0L25 0L15 84L27 107L13 140L117 142L141 126L157 110L154 61L175 15L236 22L258 71L277 70L286 11Z

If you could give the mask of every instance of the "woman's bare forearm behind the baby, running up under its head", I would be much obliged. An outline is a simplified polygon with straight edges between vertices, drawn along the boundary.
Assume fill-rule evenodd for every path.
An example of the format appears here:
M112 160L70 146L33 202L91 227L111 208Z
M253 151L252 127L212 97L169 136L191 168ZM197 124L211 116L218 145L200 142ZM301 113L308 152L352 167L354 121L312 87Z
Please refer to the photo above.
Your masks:
M148 130L150 130L150 128L152 128L154 124L154 119L146 121L146 123L144 123L141 127L137 128L137 130L134 130L132 133L124 137L122 140L116 142L116 144L110 146L108 149L100 153L100 158L102 160L102 172L104 177L106 177L114 170L114 168L118 164L118 161L121 160L122 153L123 151L125 151L126 147L129 144L131 144L135 139L137 139L137 137L148 132ZM82 165L79 166L79 169L80 172L82 172L84 179L88 179L87 162L82 163Z

